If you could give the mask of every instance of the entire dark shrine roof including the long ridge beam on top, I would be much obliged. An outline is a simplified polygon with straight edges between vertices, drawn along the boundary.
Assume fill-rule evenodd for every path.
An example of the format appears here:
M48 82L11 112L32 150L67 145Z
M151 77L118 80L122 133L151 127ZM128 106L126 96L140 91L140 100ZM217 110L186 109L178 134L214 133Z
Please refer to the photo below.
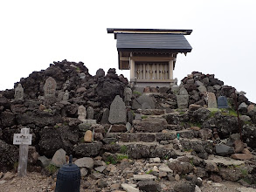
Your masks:
M159 29L107 29L117 39L118 51L172 51L190 52L190 46L184 35L191 30Z

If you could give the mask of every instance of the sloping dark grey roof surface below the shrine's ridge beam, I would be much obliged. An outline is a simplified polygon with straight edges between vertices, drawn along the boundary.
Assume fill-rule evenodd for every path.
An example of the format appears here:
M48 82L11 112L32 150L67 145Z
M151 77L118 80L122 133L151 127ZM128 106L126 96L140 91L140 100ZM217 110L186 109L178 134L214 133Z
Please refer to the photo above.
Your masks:
M153 49L190 52L192 47L183 34L117 33L117 49Z

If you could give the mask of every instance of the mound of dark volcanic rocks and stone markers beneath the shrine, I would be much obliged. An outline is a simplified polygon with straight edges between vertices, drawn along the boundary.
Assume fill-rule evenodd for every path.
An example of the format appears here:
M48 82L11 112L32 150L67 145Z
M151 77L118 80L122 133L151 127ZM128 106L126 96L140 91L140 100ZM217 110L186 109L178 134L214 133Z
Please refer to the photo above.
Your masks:
M255 187L256 106L214 75L192 72L180 86L144 89L115 69L93 77L64 60L15 86L0 92L1 171L17 166L13 134L30 127L29 170L54 175L73 154L99 191L198 191L206 178Z

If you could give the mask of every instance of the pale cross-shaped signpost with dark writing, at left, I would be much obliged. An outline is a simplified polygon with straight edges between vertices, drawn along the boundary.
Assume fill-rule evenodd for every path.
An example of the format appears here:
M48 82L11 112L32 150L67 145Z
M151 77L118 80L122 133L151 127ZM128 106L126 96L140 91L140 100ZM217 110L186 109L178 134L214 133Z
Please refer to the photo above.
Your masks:
M18 176L25 176L27 174L28 153L31 142L32 134L30 134L30 128L22 128L20 134L13 135L13 144L19 145L17 167Z

